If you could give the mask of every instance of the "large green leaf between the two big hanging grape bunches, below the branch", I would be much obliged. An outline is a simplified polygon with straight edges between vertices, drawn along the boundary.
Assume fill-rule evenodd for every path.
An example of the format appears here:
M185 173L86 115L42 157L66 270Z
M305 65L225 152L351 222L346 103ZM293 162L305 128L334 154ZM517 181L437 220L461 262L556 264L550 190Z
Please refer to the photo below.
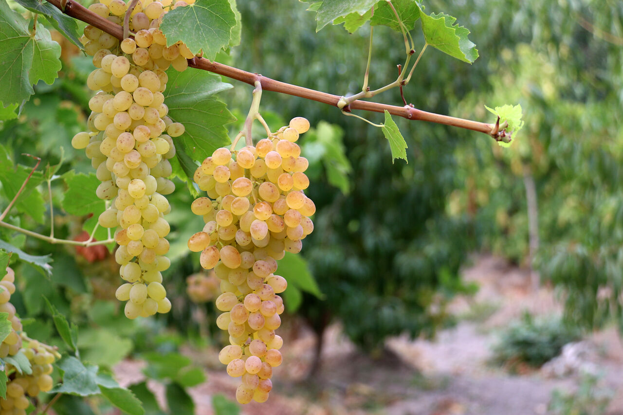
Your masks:
M183 9L184 7L179 7ZM235 121L224 102L214 94L232 88L221 82L219 75L204 70L169 70L164 98L169 117L184 124L186 132L174 138L178 161L189 177L196 165L191 160L203 161L214 150L231 143L225 124ZM192 171L190 164L194 165Z

